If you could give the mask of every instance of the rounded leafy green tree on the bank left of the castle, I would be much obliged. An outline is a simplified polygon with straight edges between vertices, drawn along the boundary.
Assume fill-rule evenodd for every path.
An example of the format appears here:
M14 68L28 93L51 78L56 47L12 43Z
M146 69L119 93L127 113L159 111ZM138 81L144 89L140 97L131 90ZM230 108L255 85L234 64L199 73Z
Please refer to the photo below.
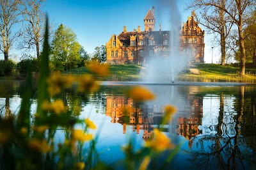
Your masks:
M81 45L77 42L76 33L63 24L56 30L51 47L52 60L56 63L61 62L64 70L76 68L81 62Z

